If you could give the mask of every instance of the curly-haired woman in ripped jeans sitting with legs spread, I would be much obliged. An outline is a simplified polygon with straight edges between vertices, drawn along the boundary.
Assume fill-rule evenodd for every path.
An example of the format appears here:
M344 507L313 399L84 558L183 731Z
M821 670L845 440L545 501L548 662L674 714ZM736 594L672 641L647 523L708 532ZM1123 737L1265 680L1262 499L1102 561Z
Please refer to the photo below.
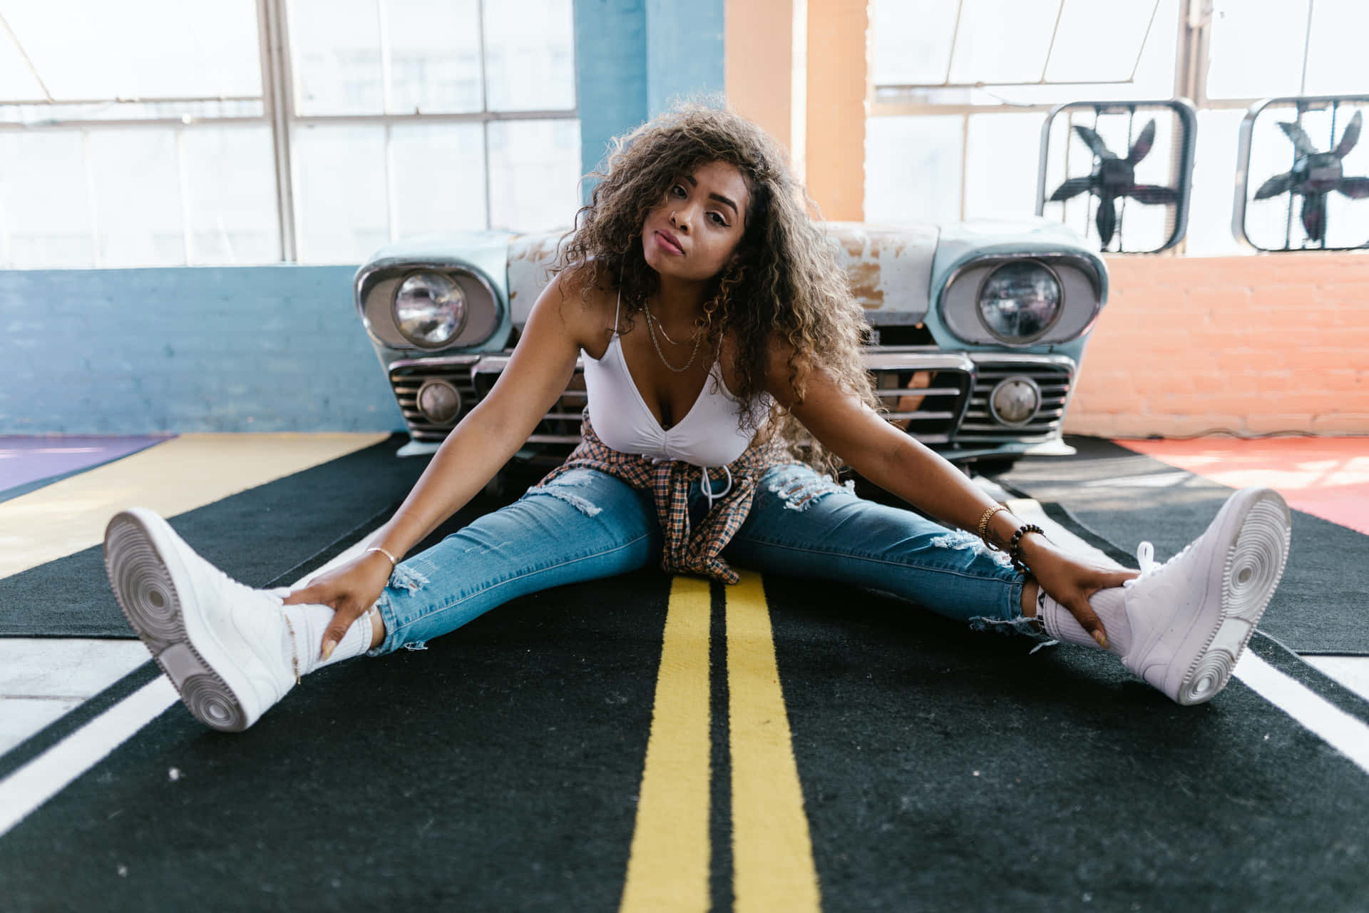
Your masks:
M1275 491L1235 493L1164 565L1142 543L1139 575L1080 561L880 416L864 313L763 130L680 107L617 141L601 177L507 370L360 557L296 593L252 590L151 511L110 522L119 605L199 720L245 730L322 665L650 561L875 586L975 627L1043 630L1180 704L1227 684L1288 553ZM589 405L565 464L405 558L523 446L576 359ZM799 452L804 433L816 443ZM835 485L843 463L956 530Z

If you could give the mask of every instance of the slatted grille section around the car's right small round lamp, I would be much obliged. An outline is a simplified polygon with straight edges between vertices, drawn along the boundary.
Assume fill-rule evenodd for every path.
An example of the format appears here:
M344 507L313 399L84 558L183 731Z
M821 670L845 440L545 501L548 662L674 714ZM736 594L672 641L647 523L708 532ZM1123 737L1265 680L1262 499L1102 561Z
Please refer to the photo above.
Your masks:
M975 391L965 419L956 431L961 448L1006 442L1036 442L1060 435L1065 402L1073 386L1073 361L1064 356L971 356L975 360ZM988 397L1008 378L1031 378L1040 387L1040 407L1023 424L994 417Z

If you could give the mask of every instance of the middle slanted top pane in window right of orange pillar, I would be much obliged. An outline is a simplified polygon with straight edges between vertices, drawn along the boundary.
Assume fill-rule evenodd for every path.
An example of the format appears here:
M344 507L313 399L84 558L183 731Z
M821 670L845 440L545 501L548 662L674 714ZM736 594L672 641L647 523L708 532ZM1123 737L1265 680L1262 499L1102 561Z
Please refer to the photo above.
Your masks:
M1060 0L964 0L951 82L1035 82Z

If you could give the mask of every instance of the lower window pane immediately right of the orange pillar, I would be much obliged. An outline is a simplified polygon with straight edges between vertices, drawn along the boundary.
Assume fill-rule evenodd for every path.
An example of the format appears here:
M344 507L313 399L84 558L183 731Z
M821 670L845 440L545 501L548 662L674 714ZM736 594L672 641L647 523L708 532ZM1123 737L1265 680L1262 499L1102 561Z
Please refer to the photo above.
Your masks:
M865 219L956 222L960 219L958 116L865 120Z

